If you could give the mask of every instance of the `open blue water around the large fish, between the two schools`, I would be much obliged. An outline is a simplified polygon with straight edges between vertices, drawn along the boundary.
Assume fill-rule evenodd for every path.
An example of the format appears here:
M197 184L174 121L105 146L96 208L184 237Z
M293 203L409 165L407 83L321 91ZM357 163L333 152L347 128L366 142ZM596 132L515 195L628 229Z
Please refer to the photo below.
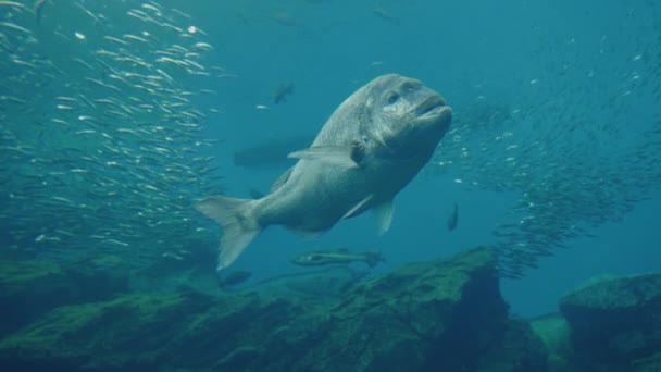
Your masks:
M209 136L226 140L227 152L219 161L227 172L228 195L246 196L251 186L266 189L278 173L233 169L233 150L315 131L358 86L386 72L421 78L448 99L456 117L470 110L478 96L511 108L540 107L535 115L554 126L578 125L563 122L566 116L558 111L565 115L591 111L593 121L579 125L606 121L607 127L618 127L622 133L618 145L623 149L636 146L628 137L654 125L652 117L660 114L659 95L649 94L660 84L658 66L649 61L659 58L661 10L649 1L384 1L377 5L394 21L377 16L373 2L349 1L228 2L216 5L213 21L200 17L217 39L223 65L240 76L215 87L220 94L215 104L224 113L208 131ZM270 20L277 11L288 12L300 26ZM641 59L635 60L638 54ZM635 73L641 74L639 84L632 82ZM270 104L269 94L287 82L296 84L289 102L269 111L254 109ZM616 95L604 89L619 95L632 89L634 95L611 101ZM553 96L559 94L562 100ZM550 106L553 100L563 106ZM625 113L614 113L621 104ZM604 147L609 152L609 145ZM659 174L658 162L656 166ZM637 202L622 221L590 227L595 238L571 239L565 243L569 249L541 259L540 268L523 280L503 281L512 311L523 315L554 311L564 292L593 275L658 270L658 179L656 185L650 200ZM515 198L515 190L466 189L451 177L423 173L397 197L394 225L385 236L375 236L370 215L341 222L313 241L270 228L236 266L253 271L257 277L274 275L295 270L287 265L291 256L314 247L378 249L387 266L447 257L490 244L491 231L507 219ZM445 221L453 201L460 206L460 223L449 233Z

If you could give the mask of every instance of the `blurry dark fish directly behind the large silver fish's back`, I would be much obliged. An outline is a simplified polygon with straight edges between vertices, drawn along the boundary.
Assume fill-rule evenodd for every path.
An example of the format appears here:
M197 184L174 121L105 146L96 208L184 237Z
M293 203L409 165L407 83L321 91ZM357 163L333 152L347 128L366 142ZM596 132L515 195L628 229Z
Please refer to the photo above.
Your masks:
M287 156L296 150L310 146L314 135L296 136L249 147L234 152L234 165L244 168L275 168L290 165Z

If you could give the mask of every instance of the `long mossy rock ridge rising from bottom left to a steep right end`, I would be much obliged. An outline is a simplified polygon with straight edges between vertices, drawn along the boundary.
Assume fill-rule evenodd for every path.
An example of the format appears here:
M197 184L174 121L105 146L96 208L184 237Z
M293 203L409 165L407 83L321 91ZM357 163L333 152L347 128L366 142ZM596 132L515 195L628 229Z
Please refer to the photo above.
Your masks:
M335 274L324 273L323 283ZM334 297L310 292L319 286L315 275L310 285L301 275L290 280L270 283L272 289L179 288L60 307L0 340L0 364L50 371L546 368L539 339L508 318L489 249L350 278Z

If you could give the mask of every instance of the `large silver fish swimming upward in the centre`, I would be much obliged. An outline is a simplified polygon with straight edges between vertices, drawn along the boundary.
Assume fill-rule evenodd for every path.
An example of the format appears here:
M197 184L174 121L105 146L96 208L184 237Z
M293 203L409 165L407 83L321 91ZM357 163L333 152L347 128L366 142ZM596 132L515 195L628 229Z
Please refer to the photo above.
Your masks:
M338 221L375 212L379 233L392 220L392 199L427 163L450 126L452 110L410 77L383 75L335 110L298 162L255 200L209 197L196 209L223 235L217 270L234 262L266 226L321 235Z

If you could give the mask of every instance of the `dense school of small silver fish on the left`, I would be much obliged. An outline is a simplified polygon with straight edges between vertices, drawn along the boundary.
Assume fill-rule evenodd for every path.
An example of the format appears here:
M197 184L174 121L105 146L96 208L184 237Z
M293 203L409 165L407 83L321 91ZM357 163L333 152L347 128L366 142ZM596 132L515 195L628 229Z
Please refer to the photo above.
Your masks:
M137 0L0 1L5 252L130 269L205 236L191 200L221 186L196 78L223 69L191 22Z

